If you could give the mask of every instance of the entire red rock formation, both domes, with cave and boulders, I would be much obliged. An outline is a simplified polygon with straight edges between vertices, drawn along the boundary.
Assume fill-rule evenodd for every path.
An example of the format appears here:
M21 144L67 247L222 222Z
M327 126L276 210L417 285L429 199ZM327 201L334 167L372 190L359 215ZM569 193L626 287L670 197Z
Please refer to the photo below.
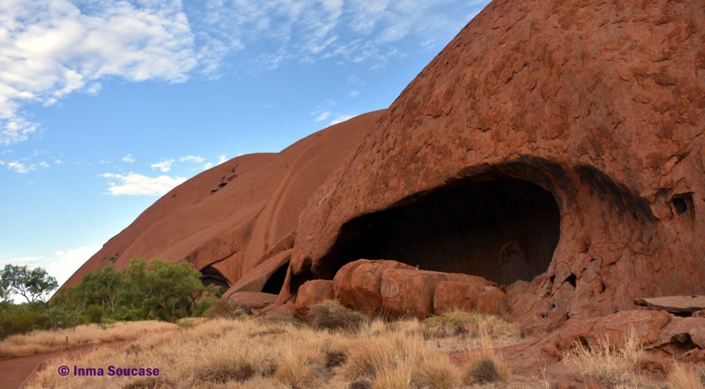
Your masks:
M186 258L287 311L333 280L370 315L654 343L668 314L633 299L705 293L704 112L701 2L495 0L387 110L199 174L68 283Z

